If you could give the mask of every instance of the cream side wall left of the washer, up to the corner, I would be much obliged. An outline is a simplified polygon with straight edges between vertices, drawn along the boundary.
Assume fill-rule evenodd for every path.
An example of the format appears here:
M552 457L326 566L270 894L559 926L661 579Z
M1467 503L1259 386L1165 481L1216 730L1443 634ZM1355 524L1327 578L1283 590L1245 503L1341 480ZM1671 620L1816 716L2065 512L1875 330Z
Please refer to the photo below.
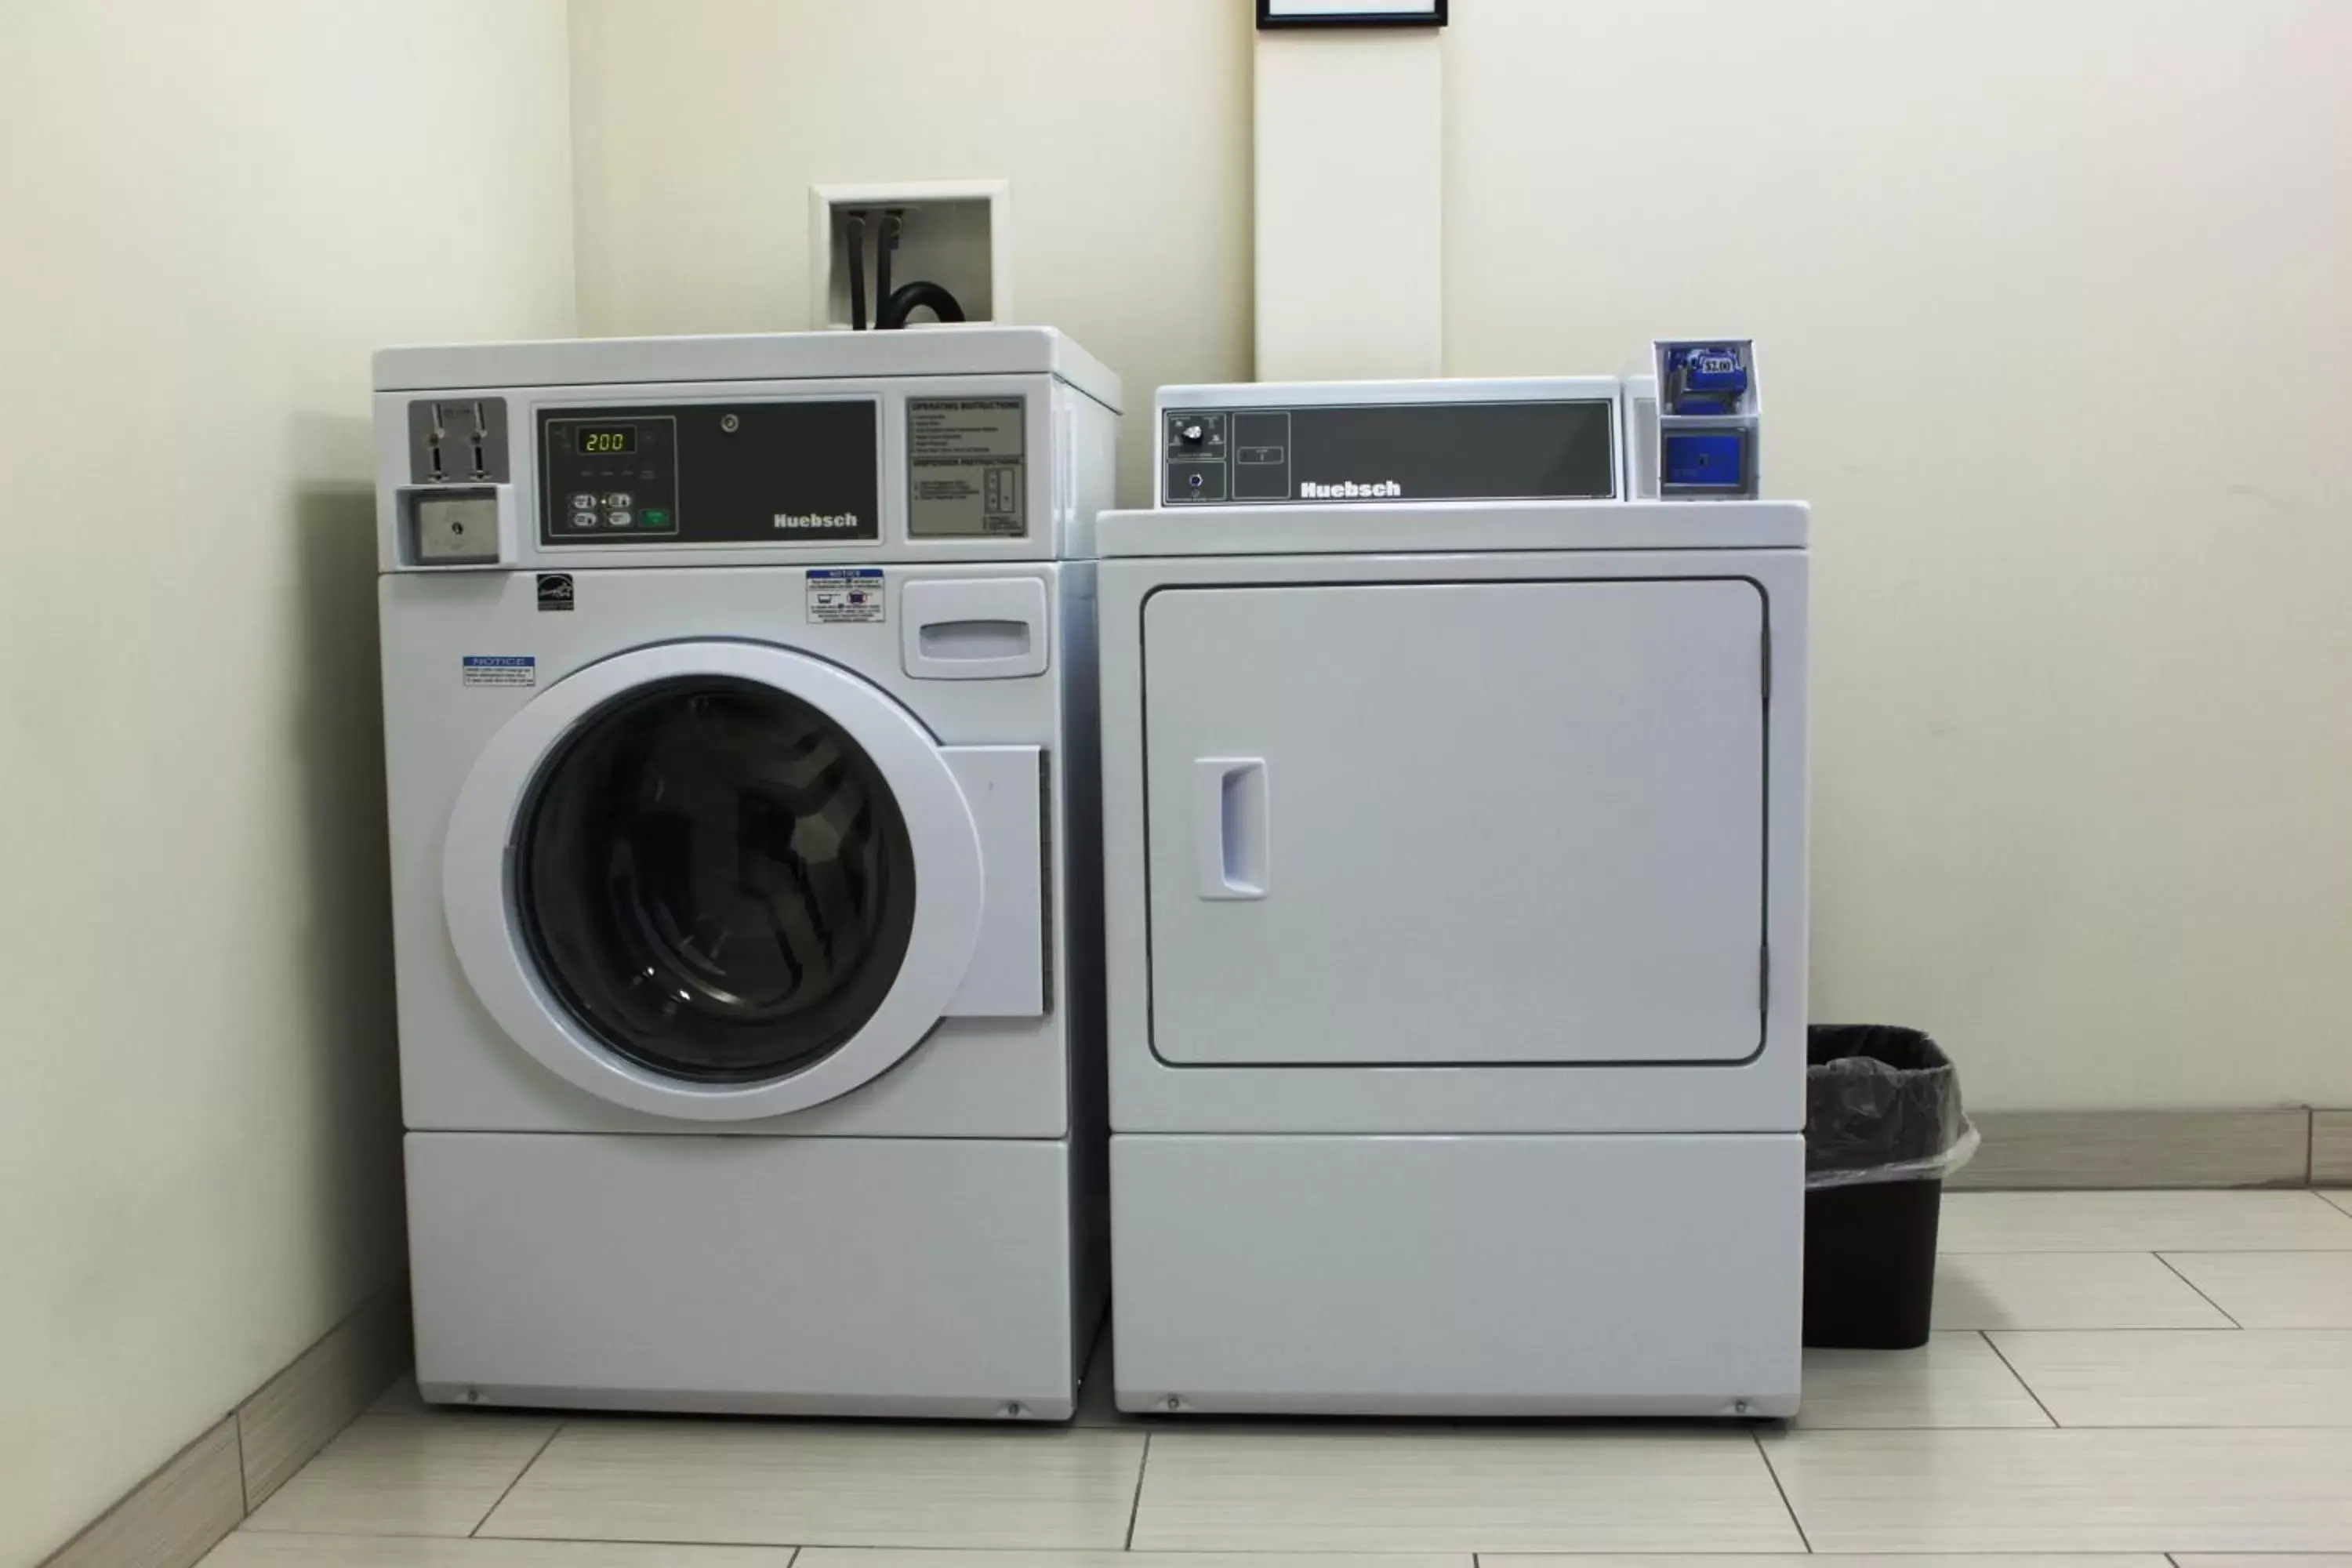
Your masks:
M572 329L555 0L0 0L0 1563L400 1267L367 355Z

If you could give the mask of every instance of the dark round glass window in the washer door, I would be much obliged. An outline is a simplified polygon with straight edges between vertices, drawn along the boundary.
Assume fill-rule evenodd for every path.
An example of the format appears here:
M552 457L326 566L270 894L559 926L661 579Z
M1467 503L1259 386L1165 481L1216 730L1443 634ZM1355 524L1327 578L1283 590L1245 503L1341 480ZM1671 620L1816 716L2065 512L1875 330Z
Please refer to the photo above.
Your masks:
M840 724L757 682L689 677L572 731L522 816L515 907L539 973L602 1044L746 1084L830 1056L882 1006L915 851Z

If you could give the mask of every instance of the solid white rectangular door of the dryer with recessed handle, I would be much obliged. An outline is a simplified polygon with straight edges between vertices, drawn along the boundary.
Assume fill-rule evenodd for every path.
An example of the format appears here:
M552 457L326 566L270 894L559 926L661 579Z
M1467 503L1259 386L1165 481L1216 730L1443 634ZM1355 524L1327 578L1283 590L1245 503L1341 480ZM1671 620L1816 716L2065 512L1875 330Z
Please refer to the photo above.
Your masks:
M1143 661L1162 1060L1759 1051L1755 583L1164 588Z

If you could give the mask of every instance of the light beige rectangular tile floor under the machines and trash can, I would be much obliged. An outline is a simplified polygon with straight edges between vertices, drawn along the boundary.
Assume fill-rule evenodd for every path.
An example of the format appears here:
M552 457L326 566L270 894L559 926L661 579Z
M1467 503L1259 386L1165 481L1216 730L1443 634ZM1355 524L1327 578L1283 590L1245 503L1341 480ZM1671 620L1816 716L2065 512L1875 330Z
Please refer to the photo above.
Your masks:
M367 1415L209 1568L2352 1568L2352 1194L1964 1192L1790 1425ZM1731 1559L1729 1554L1743 1554Z

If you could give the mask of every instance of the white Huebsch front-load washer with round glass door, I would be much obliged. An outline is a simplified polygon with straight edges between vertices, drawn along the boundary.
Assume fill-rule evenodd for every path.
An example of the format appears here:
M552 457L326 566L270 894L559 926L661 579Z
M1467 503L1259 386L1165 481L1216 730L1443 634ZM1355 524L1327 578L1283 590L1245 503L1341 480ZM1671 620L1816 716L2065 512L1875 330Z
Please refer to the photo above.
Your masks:
M1044 329L376 357L426 1399L1073 1413L1117 395Z

